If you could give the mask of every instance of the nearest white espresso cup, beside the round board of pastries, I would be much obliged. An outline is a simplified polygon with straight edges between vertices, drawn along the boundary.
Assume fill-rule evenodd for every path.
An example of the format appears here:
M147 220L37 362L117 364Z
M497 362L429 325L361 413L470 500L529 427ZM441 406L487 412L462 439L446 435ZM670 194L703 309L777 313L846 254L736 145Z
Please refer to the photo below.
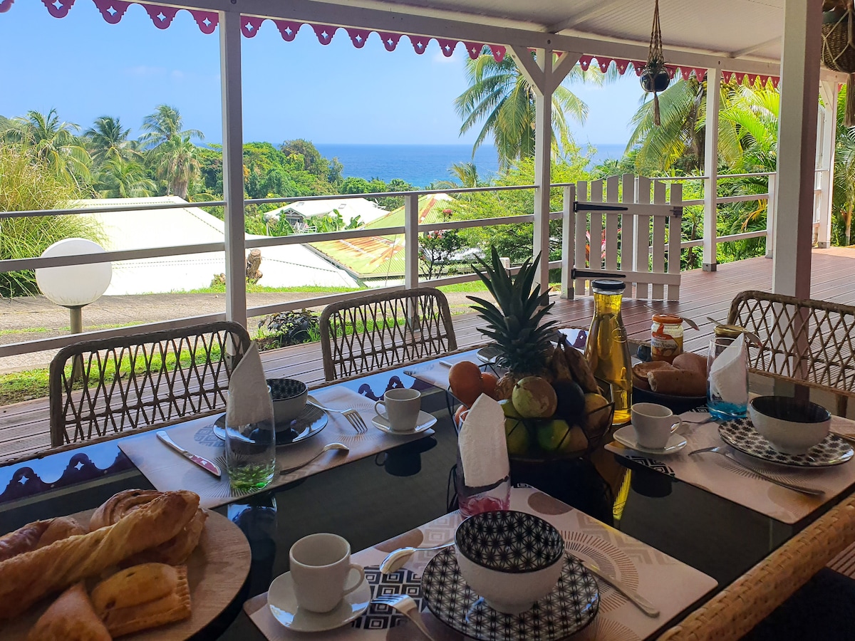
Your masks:
M329 612L362 585L365 570L351 563L351 544L338 534L310 534L291 546L291 578L300 608ZM356 577L345 587L349 577Z

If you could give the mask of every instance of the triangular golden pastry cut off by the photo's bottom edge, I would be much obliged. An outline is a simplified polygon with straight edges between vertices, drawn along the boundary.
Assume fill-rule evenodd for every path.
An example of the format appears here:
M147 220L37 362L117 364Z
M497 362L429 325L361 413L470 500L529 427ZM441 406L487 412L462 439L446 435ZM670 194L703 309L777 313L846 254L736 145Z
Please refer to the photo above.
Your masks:
M32 626L27 641L110 641L110 633L95 614L85 587L78 583L62 592Z

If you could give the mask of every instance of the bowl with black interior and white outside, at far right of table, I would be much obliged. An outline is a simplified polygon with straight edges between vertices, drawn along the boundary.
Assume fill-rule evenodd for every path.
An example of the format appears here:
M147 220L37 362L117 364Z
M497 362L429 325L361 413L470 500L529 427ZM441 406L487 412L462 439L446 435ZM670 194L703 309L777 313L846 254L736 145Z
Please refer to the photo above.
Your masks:
M831 425L828 409L791 397L754 398L748 415L754 429L784 454L805 454L828 436Z

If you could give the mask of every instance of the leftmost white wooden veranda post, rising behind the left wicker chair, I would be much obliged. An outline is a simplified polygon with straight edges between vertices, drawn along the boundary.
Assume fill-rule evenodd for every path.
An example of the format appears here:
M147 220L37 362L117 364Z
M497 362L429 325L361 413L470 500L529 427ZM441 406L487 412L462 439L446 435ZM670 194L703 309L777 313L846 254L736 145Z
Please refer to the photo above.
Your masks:
M226 202L226 318L246 326L244 112L240 75L240 12L220 12L222 191Z

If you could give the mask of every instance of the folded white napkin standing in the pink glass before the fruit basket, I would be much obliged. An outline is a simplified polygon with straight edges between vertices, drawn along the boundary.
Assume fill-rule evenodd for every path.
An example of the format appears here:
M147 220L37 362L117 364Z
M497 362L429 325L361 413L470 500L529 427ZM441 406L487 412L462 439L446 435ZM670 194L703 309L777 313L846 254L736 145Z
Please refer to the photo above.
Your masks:
M486 394L472 403L457 436L463 482L469 487L494 485L510 474L504 412Z

